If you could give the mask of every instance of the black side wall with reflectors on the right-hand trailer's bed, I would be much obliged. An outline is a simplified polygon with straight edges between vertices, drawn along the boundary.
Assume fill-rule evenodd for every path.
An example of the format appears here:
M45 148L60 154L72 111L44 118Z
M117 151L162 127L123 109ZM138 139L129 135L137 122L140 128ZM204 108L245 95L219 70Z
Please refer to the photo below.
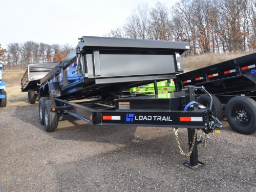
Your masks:
M178 90L185 86L204 86L212 94L241 94L256 89L255 70L256 53L252 53L178 74L175 82Z

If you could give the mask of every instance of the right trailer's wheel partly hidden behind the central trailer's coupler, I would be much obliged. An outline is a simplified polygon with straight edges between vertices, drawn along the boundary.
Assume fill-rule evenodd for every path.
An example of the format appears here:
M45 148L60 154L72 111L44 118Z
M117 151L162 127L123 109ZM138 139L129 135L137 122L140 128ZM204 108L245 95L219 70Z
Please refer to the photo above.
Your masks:
M223 108L221 101L215 96L212 95L212 115L217 117L220 121L223 118ZM210 97L207 94L202 94L197 98L197 102L201 103L202 105L206 106L207 108L210 107Z

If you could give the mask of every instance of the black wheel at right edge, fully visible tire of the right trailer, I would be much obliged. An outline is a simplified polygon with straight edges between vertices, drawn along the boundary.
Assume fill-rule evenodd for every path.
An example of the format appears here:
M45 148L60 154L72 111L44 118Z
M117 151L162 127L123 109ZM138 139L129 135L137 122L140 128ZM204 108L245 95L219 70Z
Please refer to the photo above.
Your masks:
M256 102L246 96L233 97L226 104L226 117L234 131L251 134L256 130Z

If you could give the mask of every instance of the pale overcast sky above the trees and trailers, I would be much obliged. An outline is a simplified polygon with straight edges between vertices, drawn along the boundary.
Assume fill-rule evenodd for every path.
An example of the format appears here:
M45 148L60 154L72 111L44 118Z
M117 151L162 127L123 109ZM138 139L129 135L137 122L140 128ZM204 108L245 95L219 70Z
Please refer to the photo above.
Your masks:
M0 44L44 42L76 46L78 37L103 36L121 27L133 10L177 0L6 0L0 2Z

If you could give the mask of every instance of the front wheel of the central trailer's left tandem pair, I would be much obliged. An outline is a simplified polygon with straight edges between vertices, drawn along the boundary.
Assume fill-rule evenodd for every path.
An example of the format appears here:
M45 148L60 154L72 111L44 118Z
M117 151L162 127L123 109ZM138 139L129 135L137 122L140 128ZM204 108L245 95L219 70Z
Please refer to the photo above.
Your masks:
M58 126L58 113L51 110L55 106L56 103L52 99L45 102L45 130L47 132L55 131Z

